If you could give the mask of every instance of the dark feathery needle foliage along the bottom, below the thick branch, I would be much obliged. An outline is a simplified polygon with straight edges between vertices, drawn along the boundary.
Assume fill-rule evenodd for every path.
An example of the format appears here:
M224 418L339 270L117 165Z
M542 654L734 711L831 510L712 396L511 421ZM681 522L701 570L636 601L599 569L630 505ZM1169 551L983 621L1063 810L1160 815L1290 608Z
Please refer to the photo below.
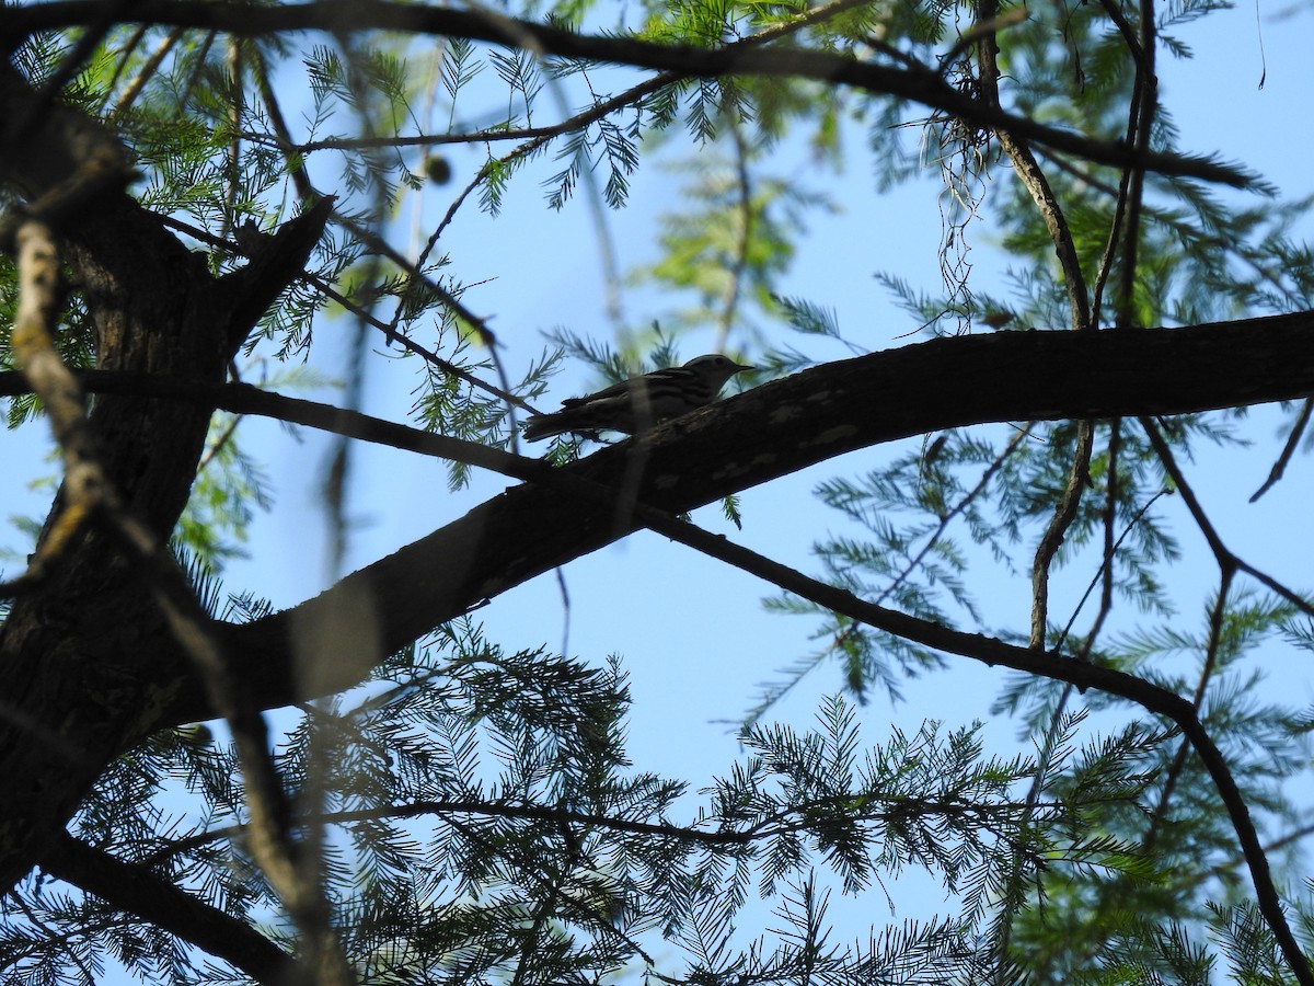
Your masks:
M614 975L658 932L682 956L662 964L700 982L790 982L808 966L979 970L980 907L891 928L867 947L825 945L830 891L819 868L854 894L912 865L968 899L1000 880L1007 847L1026 872L1143 870L1112 844L1064 835L1092 806L1134 798L1125 777L1087 766L1079 790L1026 819L1013 791L1034 764L986 757L975 730L941 735L928 723L863 752L854 709L832 698L813 731L745 734L746 759L691 805L683 784L629 766L629 697L615 661L509 655L461 621L374 678L305 709L276 756L294 793L317 763L334 764L304 824L325 827L325 878L367 981L420 969L435 982L501 978L530 954L557 981ZM121 857L230 914L276 908L243 848L234 768L229 744L204 730L162 734L101 778L74 832L113 840ZM212 814L166 823L179 786ZM735 923L750 881L779 895L784 927L745 940ZM5 949L22 975L76 974L75 956L108 952L145 977L210 981L168 935L125 918L89 927L88 898L34 881L13 902L28 920L11 915ZM41 940L28 922L68 931L72 945ZM265 932L283 939L286 928Z

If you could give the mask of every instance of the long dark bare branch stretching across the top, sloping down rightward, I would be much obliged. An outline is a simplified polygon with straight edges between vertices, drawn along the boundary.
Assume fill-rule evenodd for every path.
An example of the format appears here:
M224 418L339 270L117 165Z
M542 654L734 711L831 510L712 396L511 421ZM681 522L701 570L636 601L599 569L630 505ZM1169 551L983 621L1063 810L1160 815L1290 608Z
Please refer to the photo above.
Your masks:
M20 7L5 11L3 38L11 45L39 30L59 30L89 22L102 9L97 0ZM397 4L388 0L319 0L310 4L251 7L197 0L141 0L124 22L222 30L238 37L325 30L334 33L396 30L411 34L466 37L494 45L531 49L543 55L586 58L677 72L686 76L765 75L813 79L866 92L895 96L941 109L976 126L1008 130L1020 138L1118 167L1141 167L1166 175L1201 177L1248 185L1251 177L1235 167L1201 158L1133 151L1121 142L1092 141L1068 130L1038 124L984 105L947 85L938 72L894 68L869 59L846 58L796 47L728 45L720 49L656 45L625 37L577 34L531 21L493 14L486 9Z

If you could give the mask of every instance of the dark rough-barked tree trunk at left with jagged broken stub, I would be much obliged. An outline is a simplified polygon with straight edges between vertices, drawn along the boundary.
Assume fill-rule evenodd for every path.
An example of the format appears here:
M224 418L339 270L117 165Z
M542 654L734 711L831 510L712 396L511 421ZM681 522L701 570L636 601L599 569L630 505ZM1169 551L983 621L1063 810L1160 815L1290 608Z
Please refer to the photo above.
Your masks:
M91 121L43 104L12 70L0 71L0 180L29 201L96 156L126 159ZM62 230L63 250L95 323L97 364L222 381L255 321L304 270L327 206L286 223L223 277L124 192L80 210ZM160 540L187 504L210 414L133 396L102 397L89 413L101 467ZM46 532L62 509L57 496ZM14 601L0 627L0 886L30 869L32 853L59 835L105 764L156 728L177 689L150 661L152 642L167 635L117 540L96 525Z

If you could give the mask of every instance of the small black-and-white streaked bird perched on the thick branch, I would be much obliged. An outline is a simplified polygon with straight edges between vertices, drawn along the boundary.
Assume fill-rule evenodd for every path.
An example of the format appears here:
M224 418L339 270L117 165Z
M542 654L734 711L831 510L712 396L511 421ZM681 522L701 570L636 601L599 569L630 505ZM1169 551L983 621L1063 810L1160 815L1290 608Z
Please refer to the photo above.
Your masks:
M586 397L569 397L558 411L531 415L524 425L524 440L537 442L568 431L633 435L711 404L727 380L753 368L712 354L682 367L633 376Z

